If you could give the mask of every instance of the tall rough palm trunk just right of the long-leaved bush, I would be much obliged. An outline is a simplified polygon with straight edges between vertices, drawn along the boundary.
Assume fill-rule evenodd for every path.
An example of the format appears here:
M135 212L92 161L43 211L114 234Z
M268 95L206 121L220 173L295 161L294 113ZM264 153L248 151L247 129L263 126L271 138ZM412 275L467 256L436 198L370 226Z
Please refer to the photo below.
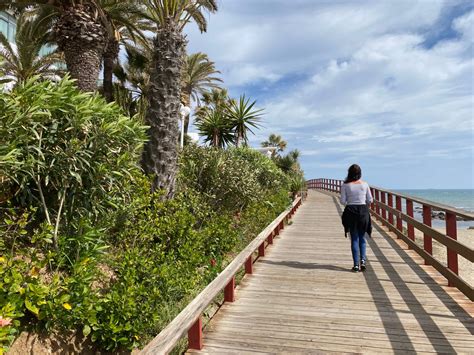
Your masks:
M185 50L186 40L176 24L157 30L146 115L149 141L142 166L145 173L154 176L153 190L164 190L164 198L172 198L175 191Z

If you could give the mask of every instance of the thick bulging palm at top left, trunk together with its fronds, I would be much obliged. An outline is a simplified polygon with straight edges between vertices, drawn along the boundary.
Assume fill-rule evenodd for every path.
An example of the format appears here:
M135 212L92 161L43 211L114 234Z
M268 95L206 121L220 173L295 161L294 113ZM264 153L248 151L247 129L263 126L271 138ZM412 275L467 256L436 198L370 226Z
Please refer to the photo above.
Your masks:
M140 1L141 2L141 1ZM82 91L97 89L103 55L114 23L133 25L122 10L138 0L12 0L11 7L30 6L36 10L36 23L51 29L52 41L64 53L71 77ZM129 5L127 5L129 4ZM140 9L139 5L136 5ZM124 20L124 21L122 21ZM116 21L116 22L113 22ZM110 50L112 51L113 45Z

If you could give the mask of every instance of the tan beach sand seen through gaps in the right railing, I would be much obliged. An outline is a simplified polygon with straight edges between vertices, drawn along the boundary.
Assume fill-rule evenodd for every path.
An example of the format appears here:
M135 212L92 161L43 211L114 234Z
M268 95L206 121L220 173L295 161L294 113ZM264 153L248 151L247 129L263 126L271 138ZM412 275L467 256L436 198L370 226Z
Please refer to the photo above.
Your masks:
M446 234L445 228L434 228L440 233ZM457 231L458 242L466 245L467 247L474 249L474 229L467 228L458 228ZM415 229L415 241L416 243L423 247L423 233ZM446 247L433 239L433 256L447 265L447 252ZM458 255L458 268L459 276L471 286L474 285L474 266L472 263L462 256Z

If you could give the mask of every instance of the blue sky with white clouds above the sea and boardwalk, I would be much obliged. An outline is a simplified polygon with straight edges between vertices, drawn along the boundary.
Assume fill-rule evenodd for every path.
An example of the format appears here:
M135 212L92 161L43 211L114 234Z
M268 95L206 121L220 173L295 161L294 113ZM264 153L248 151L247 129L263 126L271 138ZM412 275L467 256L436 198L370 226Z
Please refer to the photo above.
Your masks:
M474 3L218 0L186 32L232 97L301 152L306 178L391 189L474 188Z

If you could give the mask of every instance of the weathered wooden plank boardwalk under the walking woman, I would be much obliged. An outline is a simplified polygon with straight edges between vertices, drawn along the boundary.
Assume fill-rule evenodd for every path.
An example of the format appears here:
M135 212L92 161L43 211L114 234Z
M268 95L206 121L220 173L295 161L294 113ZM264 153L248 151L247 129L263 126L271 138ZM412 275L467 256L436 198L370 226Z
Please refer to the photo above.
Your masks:
M311 191L189 353L474 354L472 302L379 227L352 273L340 212Z

